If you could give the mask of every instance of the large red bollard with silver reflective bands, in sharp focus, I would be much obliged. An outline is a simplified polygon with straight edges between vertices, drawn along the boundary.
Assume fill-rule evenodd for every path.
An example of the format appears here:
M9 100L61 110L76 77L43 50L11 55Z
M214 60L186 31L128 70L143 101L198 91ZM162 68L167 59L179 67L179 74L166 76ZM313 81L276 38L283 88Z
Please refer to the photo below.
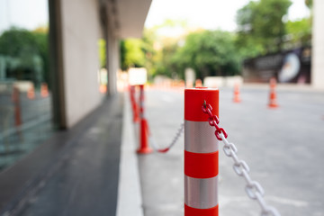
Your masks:
M219 116L219 90L184 90L184 216L218 215L219 144L202 104Z

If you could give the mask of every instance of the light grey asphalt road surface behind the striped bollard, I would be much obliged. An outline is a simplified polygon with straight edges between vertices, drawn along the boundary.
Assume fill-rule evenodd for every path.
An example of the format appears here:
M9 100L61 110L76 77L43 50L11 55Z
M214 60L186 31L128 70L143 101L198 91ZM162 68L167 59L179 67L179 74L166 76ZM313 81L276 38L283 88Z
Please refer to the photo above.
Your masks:
M242 103L232 103L232 89L220 89L220 126L281 215L324 215L324 92L296 86L277 96L280 107L273 110L266 86L243 87ZM183 93L149 89L146 111L152 137L166 147L184 119ZM167 154L139 156L145 216L183 215L183 149L182 136ZM260 215L232 164L220 150L220 215Z

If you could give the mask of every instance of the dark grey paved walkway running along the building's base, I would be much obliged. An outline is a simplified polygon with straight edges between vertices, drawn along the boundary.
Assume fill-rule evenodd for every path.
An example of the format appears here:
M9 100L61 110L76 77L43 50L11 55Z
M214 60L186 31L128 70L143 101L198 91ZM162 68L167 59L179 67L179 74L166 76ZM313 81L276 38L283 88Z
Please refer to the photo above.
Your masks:
M115 215L123 97L105 101L0 174L0 214Z

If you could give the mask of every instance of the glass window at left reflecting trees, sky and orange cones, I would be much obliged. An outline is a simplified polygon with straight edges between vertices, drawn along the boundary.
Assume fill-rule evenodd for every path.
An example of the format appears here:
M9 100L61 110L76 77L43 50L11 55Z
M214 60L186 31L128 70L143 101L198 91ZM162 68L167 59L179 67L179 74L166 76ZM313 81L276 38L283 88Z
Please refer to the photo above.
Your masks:
M0 0L0 172L52 133L46 0Z

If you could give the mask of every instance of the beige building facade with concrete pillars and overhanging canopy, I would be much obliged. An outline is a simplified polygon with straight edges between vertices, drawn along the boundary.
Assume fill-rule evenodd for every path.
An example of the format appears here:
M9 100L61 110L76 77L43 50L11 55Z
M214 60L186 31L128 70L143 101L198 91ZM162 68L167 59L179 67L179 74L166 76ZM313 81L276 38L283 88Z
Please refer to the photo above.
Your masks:
M105 40L107 94L116 92L119 40L141 36L151 0L49 0L54 119L70 128L103 100L97 42Z

